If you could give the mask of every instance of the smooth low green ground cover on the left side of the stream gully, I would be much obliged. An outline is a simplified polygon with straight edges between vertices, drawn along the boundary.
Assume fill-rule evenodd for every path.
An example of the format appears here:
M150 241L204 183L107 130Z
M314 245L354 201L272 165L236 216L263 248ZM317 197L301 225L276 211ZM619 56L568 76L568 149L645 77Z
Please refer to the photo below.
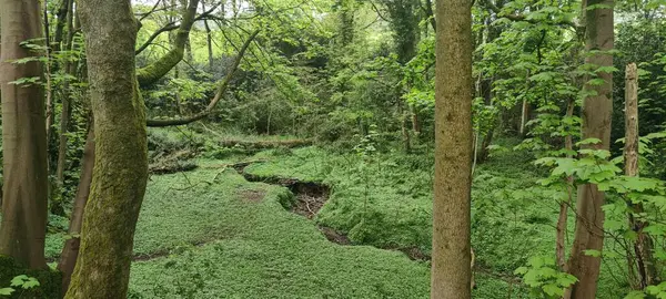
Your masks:
M286 188L208 167L153 177L139 219L131 298L427 298L402 252L332 244L287 212Z

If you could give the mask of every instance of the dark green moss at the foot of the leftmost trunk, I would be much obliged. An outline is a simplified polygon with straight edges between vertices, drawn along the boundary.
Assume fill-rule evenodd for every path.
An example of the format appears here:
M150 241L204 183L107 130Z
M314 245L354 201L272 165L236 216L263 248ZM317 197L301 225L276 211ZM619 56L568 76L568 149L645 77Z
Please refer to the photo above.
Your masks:
M59 271L26 269L14 259L0 256L0 288L9 287L11 279L19 275L37 278L40 286L30 291L17 290L11 298L60 298L62 276Z

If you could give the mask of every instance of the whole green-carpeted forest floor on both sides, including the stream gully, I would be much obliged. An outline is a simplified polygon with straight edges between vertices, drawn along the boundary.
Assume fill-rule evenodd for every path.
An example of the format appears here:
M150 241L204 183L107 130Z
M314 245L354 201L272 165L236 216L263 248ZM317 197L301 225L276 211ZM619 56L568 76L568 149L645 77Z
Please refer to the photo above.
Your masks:
M129 298L428 298L432 153L295 143L248 154L206 142L195 168L152 175ZM555 194L528 161L506 152L476 169L474 298L527 298L513 271L555 248ZM62 238L49 236L51 259ZM612 277L599 288L619 298Z

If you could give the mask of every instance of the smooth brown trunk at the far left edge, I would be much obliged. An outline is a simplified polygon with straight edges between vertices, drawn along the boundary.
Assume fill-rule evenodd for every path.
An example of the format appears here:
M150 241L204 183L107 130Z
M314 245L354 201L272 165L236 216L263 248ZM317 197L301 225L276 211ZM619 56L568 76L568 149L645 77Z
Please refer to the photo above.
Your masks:
M42 75L40 62L11 61L41 53L20 43L43 38L40 1L0 0L2 51L3 193L0 255L29 268L47 268L47 124L43 89L39 84L12 84L21 78Z

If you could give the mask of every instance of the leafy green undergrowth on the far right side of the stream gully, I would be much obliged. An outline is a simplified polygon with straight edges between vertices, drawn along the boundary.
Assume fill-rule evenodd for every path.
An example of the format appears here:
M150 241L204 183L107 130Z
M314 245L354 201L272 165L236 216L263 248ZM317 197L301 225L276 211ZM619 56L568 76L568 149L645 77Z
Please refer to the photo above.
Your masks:
M511 148L516 140L501 140ZM380 248L420 248L431 252L432 153L337 153L324 147L266 151L245 168L260 178L291 177L332 187L316 221L347 234L353 244ZM546 175L527 152L494 153L475 169L472 190L472 246L477 267L512 277L532 256L554 256L557 200L563 194L537 184ZM574 231L569 214L569 238ZM569 239L571 241L571 239ZM620 283L605 265L599 298L614 298ZM507 285L506 282L502 283ZM500 292L498 292L500 293ZM608 297L607 297L608 296ZM507 298L483 296L478 298Z

